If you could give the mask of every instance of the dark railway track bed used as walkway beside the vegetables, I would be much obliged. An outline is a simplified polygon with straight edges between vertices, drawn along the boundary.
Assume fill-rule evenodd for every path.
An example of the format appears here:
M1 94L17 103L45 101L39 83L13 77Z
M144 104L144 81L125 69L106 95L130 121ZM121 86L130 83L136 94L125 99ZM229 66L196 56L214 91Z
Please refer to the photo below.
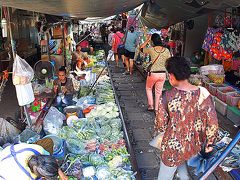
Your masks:
M133 76L123 75L123 67L115 67L115 62L110 62L109 68L141 177L143 180L157 179L160 153L149 145L149 141L152 139L155 115L147 111L145 78L139 71L135 71ZM230 132L237 131L233 124L229 124L224 117L219 116L219 121L220 126L226 126L225 130L230 130ZM197 179L193 174L192 178ZM218 168L218 171L211 174L207 179L232 178Z

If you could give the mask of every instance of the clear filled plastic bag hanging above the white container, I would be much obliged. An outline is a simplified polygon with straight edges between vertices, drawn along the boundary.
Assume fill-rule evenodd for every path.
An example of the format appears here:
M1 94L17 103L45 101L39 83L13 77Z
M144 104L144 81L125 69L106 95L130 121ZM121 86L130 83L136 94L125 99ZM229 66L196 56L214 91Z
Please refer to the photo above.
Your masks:
M29 84L34 77L32 67L21 57L16 55L13 63L13 84L25 85Z

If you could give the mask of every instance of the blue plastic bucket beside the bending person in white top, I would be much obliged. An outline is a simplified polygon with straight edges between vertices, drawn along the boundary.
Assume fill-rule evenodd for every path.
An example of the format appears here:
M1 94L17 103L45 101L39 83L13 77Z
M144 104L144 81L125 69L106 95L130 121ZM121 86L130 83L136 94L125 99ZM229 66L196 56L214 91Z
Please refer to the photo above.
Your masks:
M54 146L53 146L53 157L58 160L64 160L65 153L66 153L66 143L63 139L54 136L54 135L47 135L44 138L51 138ZM44 139L43 138L43 139Z

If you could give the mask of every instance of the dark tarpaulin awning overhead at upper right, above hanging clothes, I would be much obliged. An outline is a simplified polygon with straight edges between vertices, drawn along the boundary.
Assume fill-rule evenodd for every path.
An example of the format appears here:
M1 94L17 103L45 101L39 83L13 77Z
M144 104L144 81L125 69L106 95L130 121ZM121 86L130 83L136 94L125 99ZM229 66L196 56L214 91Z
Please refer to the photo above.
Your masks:
M154 0L145 6L142 21L148 27L164 27L216 10L239 6L240 0Z

